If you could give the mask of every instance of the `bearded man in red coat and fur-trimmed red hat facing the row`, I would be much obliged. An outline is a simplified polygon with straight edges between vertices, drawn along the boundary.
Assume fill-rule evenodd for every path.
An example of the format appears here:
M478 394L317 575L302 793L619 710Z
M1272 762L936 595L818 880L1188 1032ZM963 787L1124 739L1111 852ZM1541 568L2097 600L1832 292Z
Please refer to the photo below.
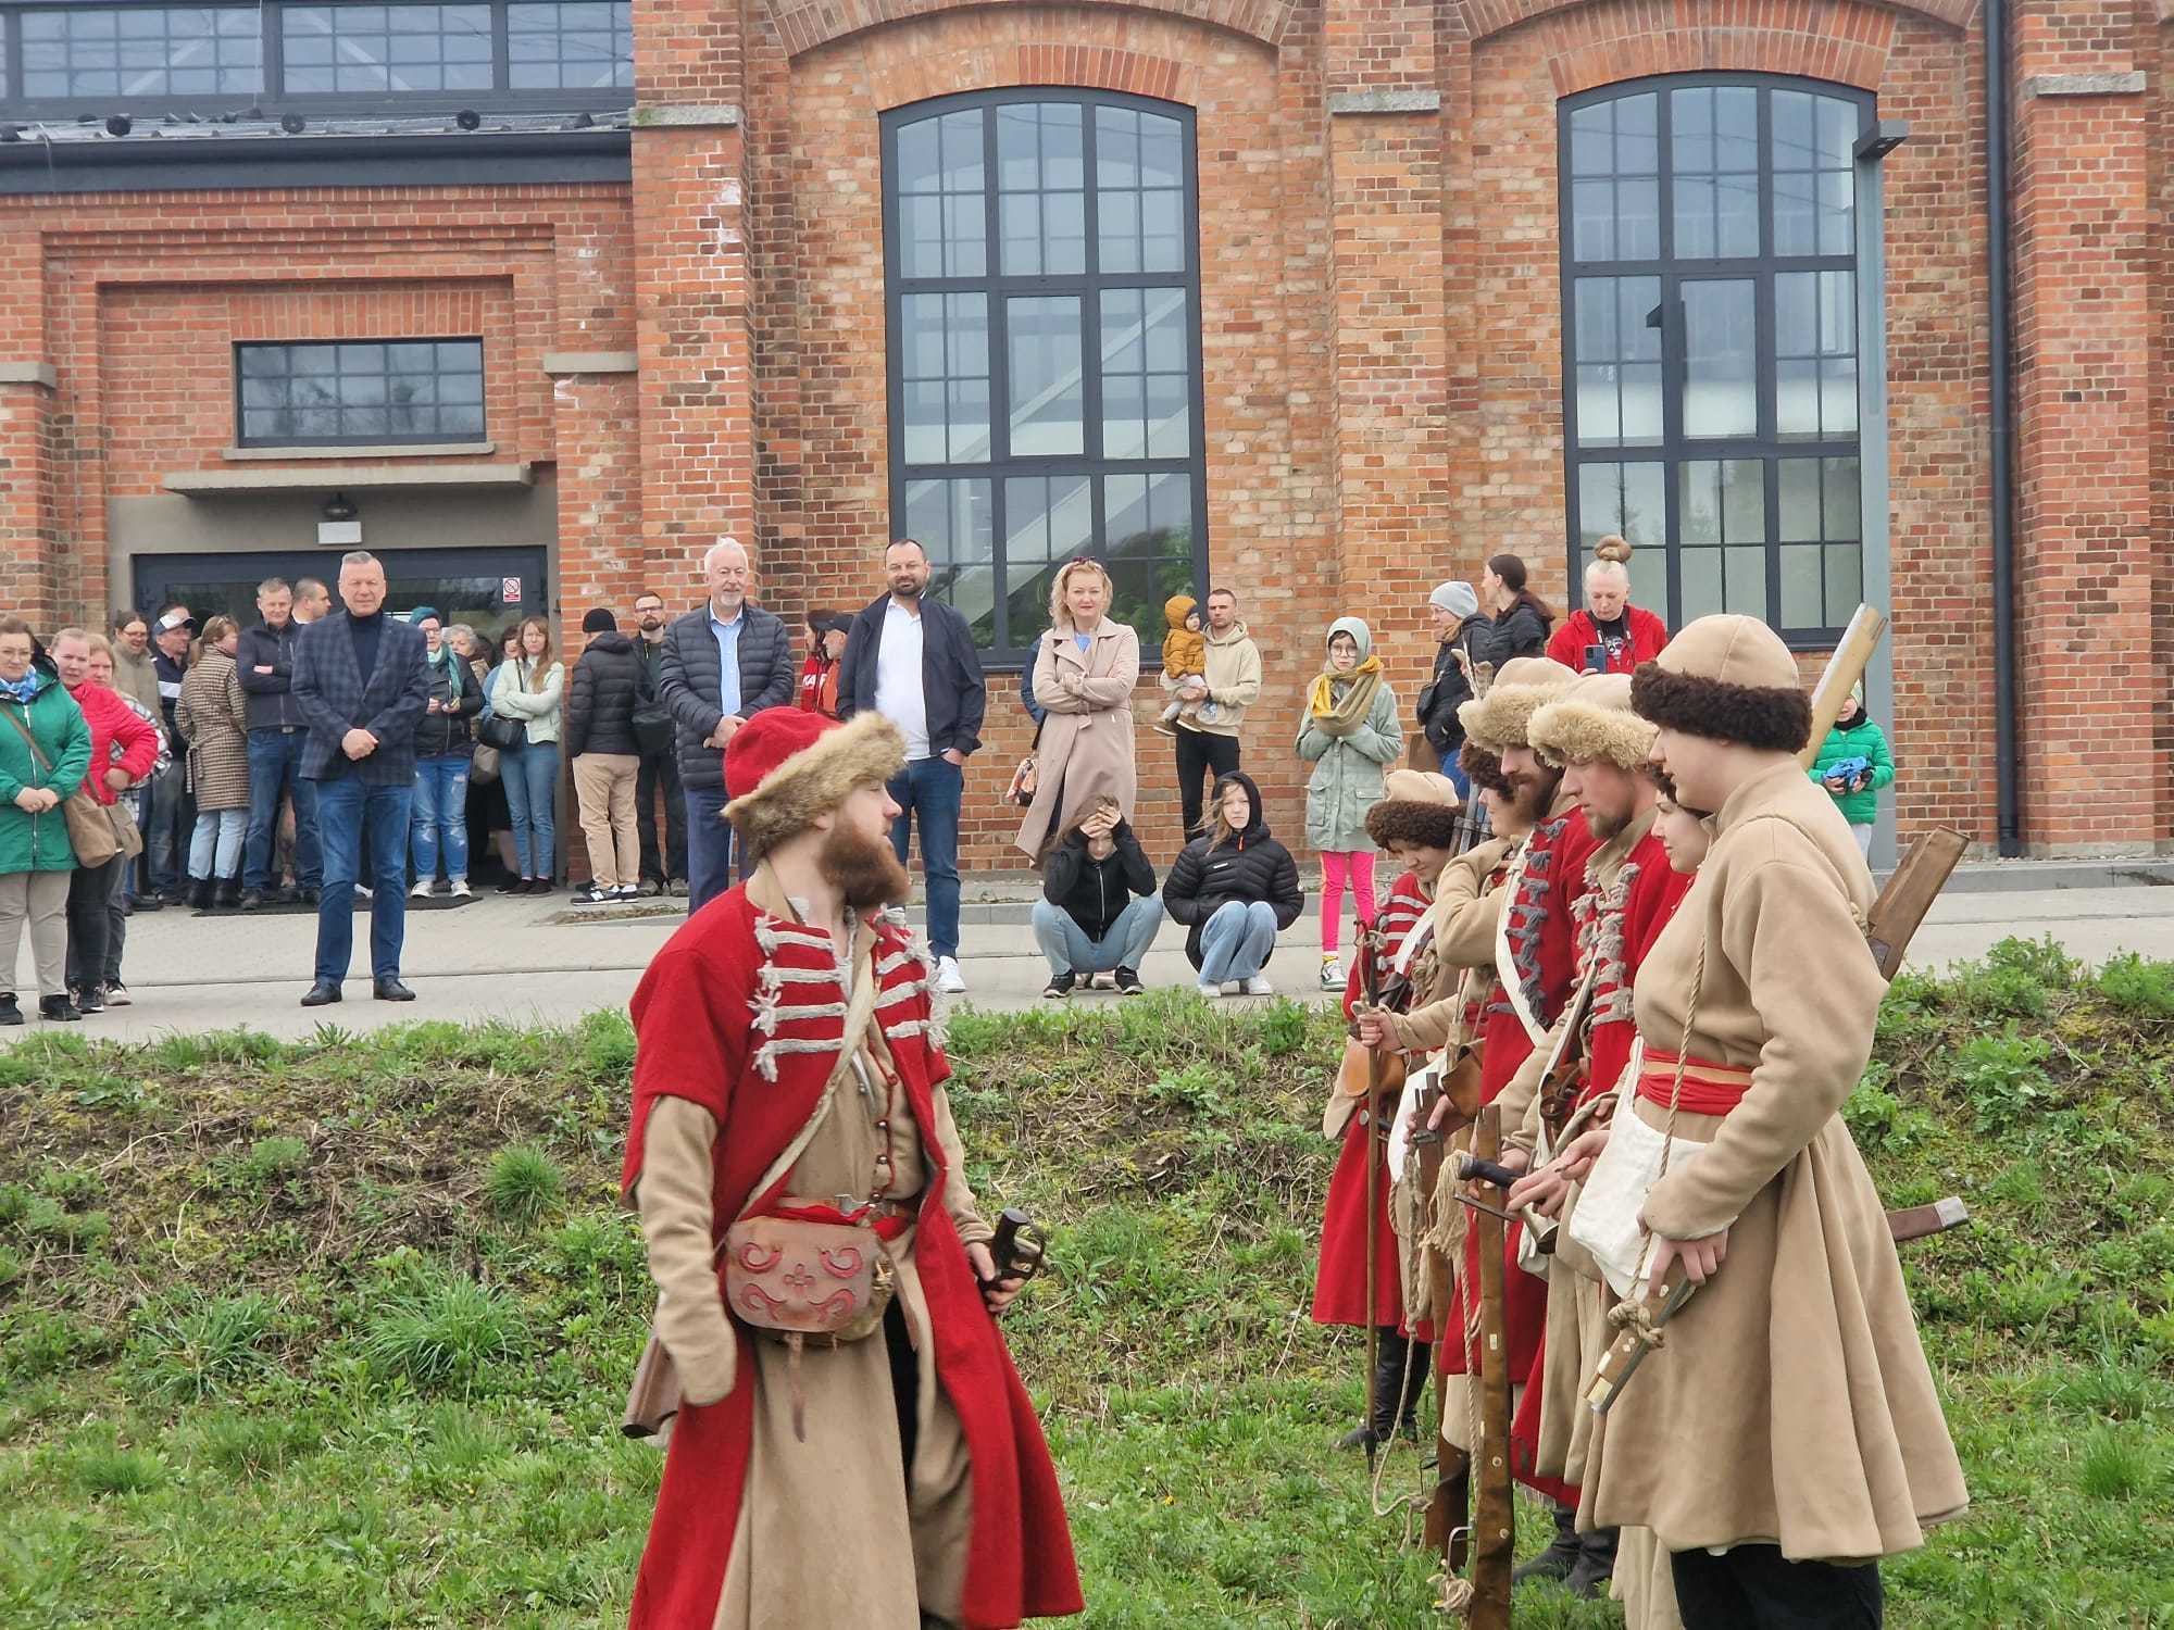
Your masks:
M902 765L874 713L741 726L724 813L754 876L635 991L624 1189L659 1304L630 1415L670 1410L637 1630L985 1630L1083 1606L996 1328L1020 1287L998 1280L965 1180L928 961L883 915L907 898L885 793ZM891 1289L880 1319L794 1341L759 1328L746 1280L728 1306L720 1258L761 1271L748 1245L726 1250L748 1219L865 1230Z

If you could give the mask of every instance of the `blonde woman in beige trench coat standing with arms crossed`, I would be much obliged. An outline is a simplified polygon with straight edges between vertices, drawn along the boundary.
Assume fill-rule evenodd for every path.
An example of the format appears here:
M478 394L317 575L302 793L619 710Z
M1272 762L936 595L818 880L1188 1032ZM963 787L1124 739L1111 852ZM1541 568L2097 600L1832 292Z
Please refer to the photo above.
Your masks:
M1102 793L1133 819L1139 635L1104 615L1109 591L1100 561L1072 561L1050 587L1050 630L1035 645L1035 702L1048 717L1035 743L1035 802L1013 839L1037 863L1050 837L1070 830Z

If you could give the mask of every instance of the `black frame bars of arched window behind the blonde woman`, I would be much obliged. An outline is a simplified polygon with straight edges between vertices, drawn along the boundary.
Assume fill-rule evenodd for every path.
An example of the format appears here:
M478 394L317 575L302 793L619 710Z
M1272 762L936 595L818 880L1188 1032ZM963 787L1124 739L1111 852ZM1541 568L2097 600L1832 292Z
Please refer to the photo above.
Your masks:
M1080 165L1083 165L1083 235L1087 267L1078 274L1035 274L1035 276L1011 276L1002 269L1002 198L1007 189L1000 185L998 165L998 120L996 109L1020 106L1020 104L1050 104L1067 102L1080 106ZM1098 185L1096 185L1096 146L1094 146L1094 115L1096 109L1124 109L1135 113L1152 113L1163 120L1172 120L1180 130L1180 176L1183 176L1183 204L1178 213L1180 241L1185 243L1185 267L1183 272L1102 272L1098 263ZM898 133L907 126L920 124L922 120L939 120L948 113L978 111L983 113L983 233L987 256L980 276L961 278L907 278L900 265L902 259L902 233L900 233L900 187L898 187ZM1209 509L1207 509L1207 383L1204 383L1204 343L1202 343L1202 311L1200 311L1200 156L1198 156L1198 128L1194 120L1194 109L1183 102L1165 102L1152 96L1130 96L1124 91L1102 91L1089 87L1070 85L1024 85L1024 87L1002 87L987 91L963 91L957 96L939 96L922 102L911 102L907 106L887 109L880 115L880 137L883 137L883 274L885 274L885 400L889 411L887 426L887 469L889 469L889 519L891 537L907 535L907 487L917 480L980 480L989 482L989 532L991 532L991 572L994 572L994 626L991 643L983 648L980 656L985 665L994 672L1015 672L1033 661L1035 643L1046 630L1046 619L1037 619L1033 628L1011 628L1011 593L1009 593L1009 561L1007 561L1007 480L1015 478L1050 478L1050 476L1085 476L1089 482L1091 502L1091 526L1087 556L1111 563L1109 554L1109 517L1104 502L1104 482L1111 476L1167 476L1180 474L1187 480L1189 502L1191 502L1191 589L1194 595L1204 595L1204 585L1209 576ZM1020 196L1011 191L1009 196ZM1041 193L1048 198L1048 191ZM1100 365L1100 324L1102 324L1102 293L1115 289L1170 289L1183 287L1187 300L1187 419L1189 419L1189 450L1183 459L1111 459L1102 454L1102 365ZM907 463L904 456L904 359L900 348L902 328L902 304L909 296L930 296L930 293L980 293L989 309L989 456L980 463ZM1078 454L1013 454L1011 452L1011 365L1009 365L1009 328L1004 322L1004 302L1011 298L1033 298L1033 296L1076 296L1080 302L1080 424L1083 441ZM1002 450L1002 456L1000 456ZM1054 561L1052 561L1054 565ZM941 576L939 576L939 582ZM1157 617L1154 626L1137 628L1141 663L1161 661L1161 639L1163 626Z

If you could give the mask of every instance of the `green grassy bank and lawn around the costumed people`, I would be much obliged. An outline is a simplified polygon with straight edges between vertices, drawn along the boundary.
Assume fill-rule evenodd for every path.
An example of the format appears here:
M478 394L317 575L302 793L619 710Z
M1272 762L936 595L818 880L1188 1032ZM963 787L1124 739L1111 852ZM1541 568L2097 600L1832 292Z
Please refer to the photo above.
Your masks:
M1007 1324L1087 1623L1439 1621L1328 1447L1333 1050L1167 993L952 1024L976 1189L1052 1237ZM630 1058L620 1015L0 1052L0 1623L622 1623L661 1469L617 1434ZM1889 995L1850 1126L1889 1204L1976 1213L1904 1247L1976 1504L1889 1565L1891 1626L2174 1626L2170 1071L2174 965L2009 941ZM1535 1587L1517 1623L1620 1615Z

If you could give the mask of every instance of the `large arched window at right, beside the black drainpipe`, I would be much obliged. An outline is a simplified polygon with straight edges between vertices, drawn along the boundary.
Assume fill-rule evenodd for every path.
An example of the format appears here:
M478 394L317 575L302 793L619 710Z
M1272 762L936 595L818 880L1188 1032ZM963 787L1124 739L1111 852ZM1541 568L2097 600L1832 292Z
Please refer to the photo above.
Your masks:
M1870 98L1678 76L1561 104L1570 556L1831 639L1863 593L1857 143Z

